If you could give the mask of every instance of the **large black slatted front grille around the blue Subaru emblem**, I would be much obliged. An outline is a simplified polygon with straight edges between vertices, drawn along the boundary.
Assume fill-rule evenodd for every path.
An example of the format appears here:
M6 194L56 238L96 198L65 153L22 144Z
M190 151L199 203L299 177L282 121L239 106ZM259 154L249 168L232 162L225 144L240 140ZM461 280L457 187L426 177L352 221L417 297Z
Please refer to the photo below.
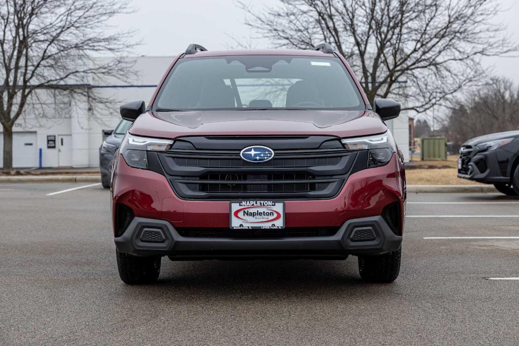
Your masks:
M175 143L158 159L173 190L184 199L332 198L357 156L331 136L183 137ZM270 146L274 159L242 160L241 149L251 145Z

